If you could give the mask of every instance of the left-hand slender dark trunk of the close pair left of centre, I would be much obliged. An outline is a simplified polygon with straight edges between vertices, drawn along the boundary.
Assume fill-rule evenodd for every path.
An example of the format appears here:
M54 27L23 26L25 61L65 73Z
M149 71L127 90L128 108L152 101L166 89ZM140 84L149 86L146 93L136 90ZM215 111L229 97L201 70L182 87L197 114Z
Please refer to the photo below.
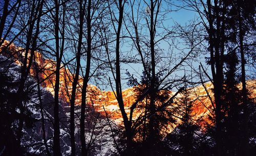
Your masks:
M82 35L83 35L83 20L84 20L84 12L82 8L82 1L79 1L79 38L78 38L78 47L76 54L76 71L75 78L72 83L72 95L70 100L70 138L71 138L71 155L74 156L76 154L75 151L75 97L76 97L76 86L79 79L79 69L80 69L80 58L81 58L81 46L82 46Z

